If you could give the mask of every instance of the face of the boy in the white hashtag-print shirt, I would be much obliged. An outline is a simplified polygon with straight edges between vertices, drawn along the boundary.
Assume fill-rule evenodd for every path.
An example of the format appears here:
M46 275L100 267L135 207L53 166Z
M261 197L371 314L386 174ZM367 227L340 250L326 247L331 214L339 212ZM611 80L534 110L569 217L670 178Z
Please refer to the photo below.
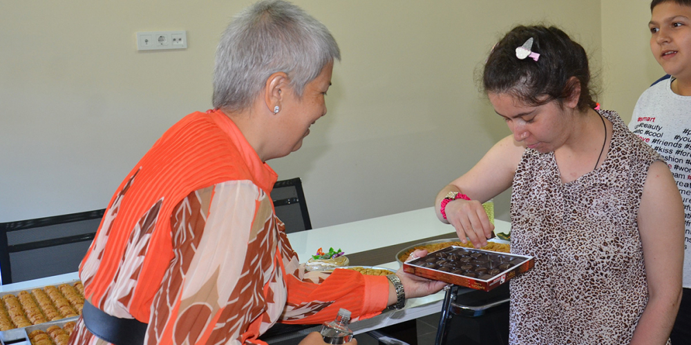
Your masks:
M652 9L650 50L665 73L691 81L691 7L674 1Z

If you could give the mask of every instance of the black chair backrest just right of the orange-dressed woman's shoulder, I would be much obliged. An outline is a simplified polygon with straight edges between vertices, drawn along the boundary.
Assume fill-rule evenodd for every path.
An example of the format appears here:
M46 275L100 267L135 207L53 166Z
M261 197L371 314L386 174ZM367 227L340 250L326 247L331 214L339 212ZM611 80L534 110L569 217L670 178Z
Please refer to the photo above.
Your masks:
M271 192L276 216L285 223L285 233L310 230L312 222L299 177L276 181Z

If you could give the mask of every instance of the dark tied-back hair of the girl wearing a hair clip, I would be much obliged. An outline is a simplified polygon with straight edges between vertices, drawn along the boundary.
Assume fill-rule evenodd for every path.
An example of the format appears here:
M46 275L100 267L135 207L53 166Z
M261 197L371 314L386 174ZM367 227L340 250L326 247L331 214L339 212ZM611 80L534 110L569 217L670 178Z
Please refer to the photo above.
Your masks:
M540 54L538 61L530 57L518 59L516 48L533 38L533 52ZM578 109L595 108L589 87L588 57L580 44L565 32L551 26L517 26L509 31L487 59L482 75L485 92L509 93L527 106L541 106L557 100L563 103L580 82Z

